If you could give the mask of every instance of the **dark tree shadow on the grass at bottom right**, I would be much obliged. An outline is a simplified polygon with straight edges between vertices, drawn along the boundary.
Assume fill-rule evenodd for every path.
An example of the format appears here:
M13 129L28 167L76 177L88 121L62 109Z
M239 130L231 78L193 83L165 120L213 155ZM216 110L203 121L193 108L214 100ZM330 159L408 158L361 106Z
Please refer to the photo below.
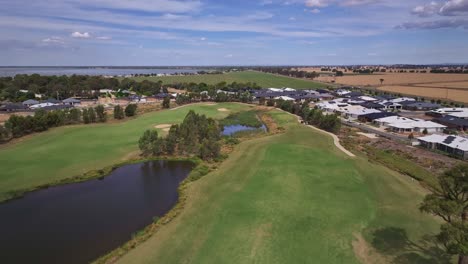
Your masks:
M411 241L402 228L387 227L372 233L372 246L381 254L393 257L395 264L451 263L451 256L437 244L434 236Z

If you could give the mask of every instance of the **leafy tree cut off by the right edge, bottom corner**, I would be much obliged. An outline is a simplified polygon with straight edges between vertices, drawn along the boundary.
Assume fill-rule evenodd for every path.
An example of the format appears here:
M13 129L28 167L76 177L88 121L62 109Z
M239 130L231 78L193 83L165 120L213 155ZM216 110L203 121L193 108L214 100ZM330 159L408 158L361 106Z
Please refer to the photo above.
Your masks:
M438 178L438 186L424 198L420 210L440 217L445 223L437 240L447 253L468 263L468 165L461 164Z

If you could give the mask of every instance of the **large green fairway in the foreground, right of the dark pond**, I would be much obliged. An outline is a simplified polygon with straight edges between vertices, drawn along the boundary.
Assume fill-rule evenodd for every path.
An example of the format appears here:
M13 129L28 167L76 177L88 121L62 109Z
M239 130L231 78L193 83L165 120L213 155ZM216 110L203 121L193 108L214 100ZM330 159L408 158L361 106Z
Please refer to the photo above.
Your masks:
M375 230L397 229L417 243L437 230L418 212L424 191L409 177L349 159L331 138L274 116L285 134L239 145L190 186L178 218L120 263L358 263L356 234L372 242Z

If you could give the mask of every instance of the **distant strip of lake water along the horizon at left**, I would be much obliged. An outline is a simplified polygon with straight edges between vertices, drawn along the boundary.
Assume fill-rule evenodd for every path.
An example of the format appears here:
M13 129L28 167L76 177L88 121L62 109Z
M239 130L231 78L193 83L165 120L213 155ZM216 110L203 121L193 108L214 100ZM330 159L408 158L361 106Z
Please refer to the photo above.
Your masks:
M40 75L129 75L129 74L173 74L196 73L192 68L146 68L146 67L0 67L0 77L14 77L17 74Z

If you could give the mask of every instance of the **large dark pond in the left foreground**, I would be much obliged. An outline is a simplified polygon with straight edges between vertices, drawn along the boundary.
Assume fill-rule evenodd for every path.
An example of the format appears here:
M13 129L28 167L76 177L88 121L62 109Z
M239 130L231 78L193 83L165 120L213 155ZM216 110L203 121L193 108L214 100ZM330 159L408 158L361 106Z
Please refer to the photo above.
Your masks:
M130 240L178 200L188 161L122 166L101 180L0 204L2 263L88 263Z

